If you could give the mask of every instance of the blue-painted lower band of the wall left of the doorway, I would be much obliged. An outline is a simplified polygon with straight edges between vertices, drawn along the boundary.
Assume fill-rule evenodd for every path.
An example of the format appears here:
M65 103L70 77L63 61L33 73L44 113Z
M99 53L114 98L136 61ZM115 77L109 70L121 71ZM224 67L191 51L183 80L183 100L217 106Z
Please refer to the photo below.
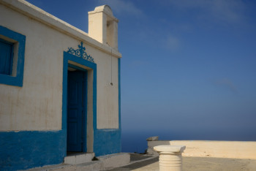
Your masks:
M26 170L63 162L64 131L0 132L0 170Z

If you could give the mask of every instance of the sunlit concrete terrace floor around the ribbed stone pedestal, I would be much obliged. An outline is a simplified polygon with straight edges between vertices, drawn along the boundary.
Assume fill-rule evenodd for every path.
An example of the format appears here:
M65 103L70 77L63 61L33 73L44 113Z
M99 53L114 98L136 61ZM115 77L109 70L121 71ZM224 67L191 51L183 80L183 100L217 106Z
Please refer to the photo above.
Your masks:
M124 167L113 168L113 171L121 170L159 170L158 157L145 160L145 155L131 154L131 161L138 161ZM193 170L232 170L232 171L255 171L256 160L254 159L227 159L214 157L183 156L183 171ZM140 161L142 160L142 161Z

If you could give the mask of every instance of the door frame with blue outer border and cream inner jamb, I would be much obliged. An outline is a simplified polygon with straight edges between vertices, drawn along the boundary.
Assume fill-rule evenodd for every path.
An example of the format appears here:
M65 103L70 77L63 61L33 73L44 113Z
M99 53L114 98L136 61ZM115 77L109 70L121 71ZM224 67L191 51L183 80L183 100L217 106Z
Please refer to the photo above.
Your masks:
M61 124L65 135L64 156L67 156L67 72L69 64L87 71L87 132L86 142L83 143L83 152L94 152L94 133L97 129L97 64L64 51Z

